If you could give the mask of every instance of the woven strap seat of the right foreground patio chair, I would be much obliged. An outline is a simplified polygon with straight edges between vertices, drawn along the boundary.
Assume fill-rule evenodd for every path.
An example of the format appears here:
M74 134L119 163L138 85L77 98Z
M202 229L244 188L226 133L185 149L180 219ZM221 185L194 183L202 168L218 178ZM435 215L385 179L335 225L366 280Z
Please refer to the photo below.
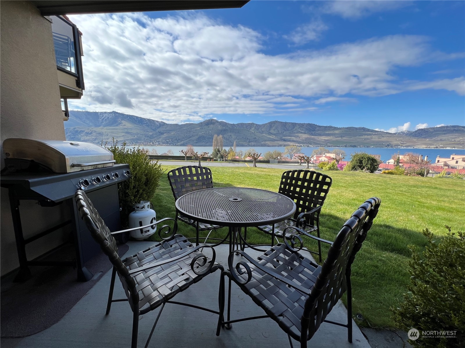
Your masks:
M285 244L273 246L256 258L259 264L269 267L286 279L311 290L321 271L321 266L298 252L291 252ZM281 329L296 340L300 338L302 313L307 294L247 263L252 270L252 279L240 288L263 308L268 316L278 322ZM244 281L247 274L241 275Z

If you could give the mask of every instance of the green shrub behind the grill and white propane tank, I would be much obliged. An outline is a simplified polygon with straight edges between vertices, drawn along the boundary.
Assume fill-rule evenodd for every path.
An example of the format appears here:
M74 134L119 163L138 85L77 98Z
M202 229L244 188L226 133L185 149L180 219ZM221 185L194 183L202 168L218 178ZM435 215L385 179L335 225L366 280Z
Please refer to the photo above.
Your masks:
M126 148L126 142L118 146L118 141L113 138L113 143L109 146L104 144L105 148L113 153L116 163L129 164L131 178L123 181L119 186L120 205L121 205L121 223L127 226L128 215L134 209L135 203L141 200L151 200L159 186L159 181L165 171L161 164L150 161L146 151L137 147Z

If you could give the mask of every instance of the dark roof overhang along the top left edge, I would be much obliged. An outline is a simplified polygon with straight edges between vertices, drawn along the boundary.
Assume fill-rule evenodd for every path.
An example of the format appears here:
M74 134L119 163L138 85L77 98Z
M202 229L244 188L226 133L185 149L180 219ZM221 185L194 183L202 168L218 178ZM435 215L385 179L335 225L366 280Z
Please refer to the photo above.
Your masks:
M239 8L249 0L36 0L43 16L85 13L150 12Z

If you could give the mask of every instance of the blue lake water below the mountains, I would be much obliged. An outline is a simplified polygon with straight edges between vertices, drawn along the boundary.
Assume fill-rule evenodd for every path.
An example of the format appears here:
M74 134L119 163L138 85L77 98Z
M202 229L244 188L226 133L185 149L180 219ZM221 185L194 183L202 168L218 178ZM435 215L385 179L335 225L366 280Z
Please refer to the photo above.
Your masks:
M156 149L159 154L167 152L168 150L173 151L173 155L182 155L179 153L180 150L185 149L185 146L141 146L146 149ZM225 147L228 149L229 147ZM242 147L238 146L237 151L246 151L250 147ZM261 153L262 155L265 154L267 151L279 150L284 152L284 147L263 147L257 146L254 149ZM312 151L317 148L302 148L302 153L305 155L311 155ZM334 148L327 148L328 150L332 150ZM385 162L390 160L392 155L399 153L400 155L405 154L406 152L413 152L419 155L428 156L428 160L432 160L439 157L447 157L449 158L452 154L456 155L465 155L465 149L455 149L455 148L340 148L345 151L345 161L350 161L351 154L355 152L366 152L370 155L381 155L381 161ZM194 150L198 152L208 152L211 153L213 151L211 146L194 146Z

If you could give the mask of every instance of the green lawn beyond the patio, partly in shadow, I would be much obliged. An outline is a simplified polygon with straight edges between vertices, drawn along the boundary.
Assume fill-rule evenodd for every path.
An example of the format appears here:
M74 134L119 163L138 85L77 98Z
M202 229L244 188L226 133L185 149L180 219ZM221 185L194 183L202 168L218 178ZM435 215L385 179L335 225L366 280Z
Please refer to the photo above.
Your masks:
M164 166L166 172L174 166ZM277 191L282 169L212 167L214 186L256 187ZM320 215L322 238L333 240L346 219L366 199L377 196L381 207L372 229L352 266L354 316L365 320L361 326L393 327L389 307L394 306L409 282L407 245L424 247L421 231L428 227L438 236L444 225L464 231L465 180L421 178L358 172L325 172L332 187ZM174 199L166 174L153 197L157 218L174 218ZM195 229L179 224L179 233L195 236ZM217 236L224 236L219 230ZM213 234L213 233L212 233ZM270 237L255 228L247 230L247 240L269 243ZM315 248L311 240L306 246ZM325 258L326 251L323 251Z

